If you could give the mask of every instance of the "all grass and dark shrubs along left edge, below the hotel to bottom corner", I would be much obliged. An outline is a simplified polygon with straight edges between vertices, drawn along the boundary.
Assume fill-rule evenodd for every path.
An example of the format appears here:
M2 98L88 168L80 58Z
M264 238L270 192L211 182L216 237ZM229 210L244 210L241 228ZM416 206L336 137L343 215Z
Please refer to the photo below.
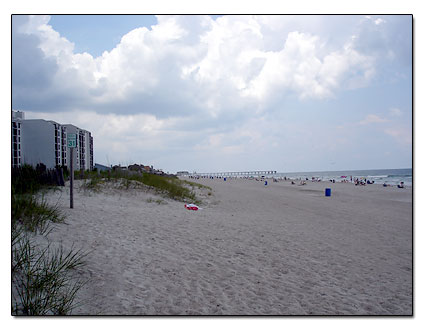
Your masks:
M40 197L46 186L51 185L31 166L12 172L12 315L69 314L84 285L72 274L86 253L62 244L42 247L34 240L37 233L47 239L51 224L65 221L57 206Z

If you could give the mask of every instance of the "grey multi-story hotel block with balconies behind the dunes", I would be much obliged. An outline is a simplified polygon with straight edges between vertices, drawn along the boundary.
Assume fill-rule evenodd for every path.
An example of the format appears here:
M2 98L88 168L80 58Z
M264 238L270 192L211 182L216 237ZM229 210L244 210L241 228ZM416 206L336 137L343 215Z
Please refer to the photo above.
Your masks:
M73 150L73 169L92 170L93 137L89 131L72 124L42 119L27 120L23 112L12 111L12 167L43 163L47 168L70 168L68 133L77 135L77 146Z

